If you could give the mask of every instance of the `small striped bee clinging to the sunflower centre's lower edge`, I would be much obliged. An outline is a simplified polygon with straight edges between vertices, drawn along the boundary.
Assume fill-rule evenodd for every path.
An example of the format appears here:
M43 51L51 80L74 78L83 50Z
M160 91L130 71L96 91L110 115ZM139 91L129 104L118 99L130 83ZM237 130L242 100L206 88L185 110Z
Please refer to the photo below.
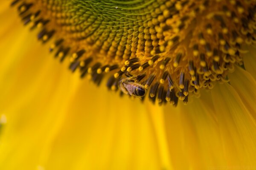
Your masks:
M136 77L126 77L119 80L119 88L124 94L130 94L138 98L145 96L146 89L144 85L135 82Z

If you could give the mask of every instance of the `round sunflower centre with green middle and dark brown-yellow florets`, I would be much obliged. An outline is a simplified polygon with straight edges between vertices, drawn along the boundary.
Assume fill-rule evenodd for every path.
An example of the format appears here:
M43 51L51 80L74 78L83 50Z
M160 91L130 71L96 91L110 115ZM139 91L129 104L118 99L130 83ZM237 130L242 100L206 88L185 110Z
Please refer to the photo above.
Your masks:
M255 0L15 0L55 57L97 85L152 102L198 96L243 67L256 42Z

